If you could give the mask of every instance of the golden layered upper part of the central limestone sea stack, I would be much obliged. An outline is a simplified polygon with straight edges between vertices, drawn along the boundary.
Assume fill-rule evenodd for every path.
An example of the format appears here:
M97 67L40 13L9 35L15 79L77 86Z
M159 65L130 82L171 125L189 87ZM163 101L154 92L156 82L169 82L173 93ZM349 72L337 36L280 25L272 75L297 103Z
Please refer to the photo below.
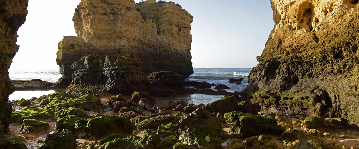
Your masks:
M77 37L64 36L58 46L62 77L56 87L73 81L71 65L87 54L137 55L145 74L173 71L187 78L193 73L193 17L176 3L81 0L73 21Z

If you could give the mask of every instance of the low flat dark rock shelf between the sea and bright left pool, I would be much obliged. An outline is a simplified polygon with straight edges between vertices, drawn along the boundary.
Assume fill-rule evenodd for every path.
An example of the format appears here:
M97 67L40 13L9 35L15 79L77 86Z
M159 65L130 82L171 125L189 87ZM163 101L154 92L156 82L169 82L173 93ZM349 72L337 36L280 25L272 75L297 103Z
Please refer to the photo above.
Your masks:
M49 86L53 85L53 83L51 82L41 81L41 80L35 80L35 81L12 80L11 82L14 84L15 90L41 90L41 89L47 89Z

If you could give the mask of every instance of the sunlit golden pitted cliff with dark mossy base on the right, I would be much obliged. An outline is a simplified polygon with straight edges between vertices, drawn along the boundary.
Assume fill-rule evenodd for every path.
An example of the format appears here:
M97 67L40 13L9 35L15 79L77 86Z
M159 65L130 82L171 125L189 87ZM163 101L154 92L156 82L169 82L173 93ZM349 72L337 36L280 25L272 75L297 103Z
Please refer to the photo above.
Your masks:
M242 96L263 111L359 124L359 0L271 0L275 22Z

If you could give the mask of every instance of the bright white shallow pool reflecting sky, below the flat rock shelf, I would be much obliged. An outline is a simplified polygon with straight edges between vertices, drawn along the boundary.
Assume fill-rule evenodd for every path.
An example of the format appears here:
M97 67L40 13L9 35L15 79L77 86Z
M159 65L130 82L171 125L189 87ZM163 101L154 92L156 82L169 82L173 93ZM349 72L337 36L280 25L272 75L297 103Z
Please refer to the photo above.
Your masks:
M39 98L42 95L48 95L51 93L55 93L56 91L66 92L65 89L54 89L54 90L29 90L29 91L14 91L13 94L9 95L9 100L20 100L31 99L33 97Z

